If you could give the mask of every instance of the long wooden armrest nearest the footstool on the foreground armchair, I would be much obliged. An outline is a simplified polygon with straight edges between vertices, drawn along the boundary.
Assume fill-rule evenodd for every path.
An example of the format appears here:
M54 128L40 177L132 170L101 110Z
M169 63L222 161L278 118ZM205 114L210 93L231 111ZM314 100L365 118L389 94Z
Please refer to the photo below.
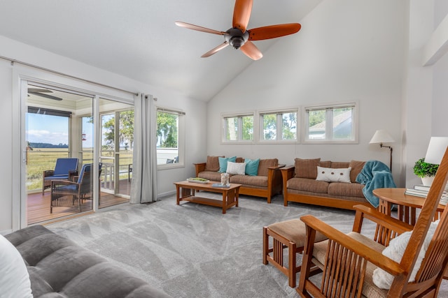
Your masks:
M359 255L361 258L364 258L377 267L384 269L388 273L394 276L404 274L405 271L400 267L398 262L387 258L385 255L379 251L375 251L370 246L367 246L356 239L347 236L339 230L332 228L332 226L320 221L318 218L311 215L306 215L300 217L300 220L307 225L307 237L311 234L309 232L310 230L321 232L321 234L324 234L328 237L328 239L331 239L345 248L348 248L350 251L353 251L353 253L356 253L356 255ZM308 243L308 241L306 243Z

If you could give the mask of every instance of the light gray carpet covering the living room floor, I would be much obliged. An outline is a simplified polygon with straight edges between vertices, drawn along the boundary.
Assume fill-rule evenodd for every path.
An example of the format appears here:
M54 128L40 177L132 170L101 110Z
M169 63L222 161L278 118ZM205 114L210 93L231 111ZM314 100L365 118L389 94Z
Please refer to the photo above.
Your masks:
M304 204L284 207L281 195L272 204L242 195L239 207L221 211L188 202L177 206L172 196L153 204L102 209L48 228L173 297L298 297L286 276L262 264L262 227L312 214L349 232L354 215ZM373 234L374 225L364 227ZM444 282L439 297L448 297L447 288Z

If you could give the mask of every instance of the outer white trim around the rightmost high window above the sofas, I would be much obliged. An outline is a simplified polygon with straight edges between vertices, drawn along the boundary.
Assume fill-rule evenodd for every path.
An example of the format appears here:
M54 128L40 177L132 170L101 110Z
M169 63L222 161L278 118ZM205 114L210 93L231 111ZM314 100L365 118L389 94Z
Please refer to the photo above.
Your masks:
M323 109L332 109L335 107L348 107L353 106L354 115L352 118L353 123L353 140L309 140L307 138L308 135L308 114L307 110L323 110ZM301 135L302 135L302 144L358 144L359 143L359 127L358 127L358 117L359 117L359 103L358 101L350 101L346 103L338 102L338 103L327 103L325 105L304 105L302 107L302 127L301 127Z

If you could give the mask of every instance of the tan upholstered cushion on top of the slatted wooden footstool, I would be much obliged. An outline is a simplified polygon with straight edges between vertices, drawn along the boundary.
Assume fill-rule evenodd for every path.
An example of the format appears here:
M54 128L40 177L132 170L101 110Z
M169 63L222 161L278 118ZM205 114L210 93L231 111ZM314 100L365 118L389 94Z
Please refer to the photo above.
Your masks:
M303 247L306 239L306 226L300 219L290 219L289 221L281 221L279 223L272 223L267 227L272 232L285 237L286 239L293 241L295 246ZM317 232L315 241L323 241L327 237Z

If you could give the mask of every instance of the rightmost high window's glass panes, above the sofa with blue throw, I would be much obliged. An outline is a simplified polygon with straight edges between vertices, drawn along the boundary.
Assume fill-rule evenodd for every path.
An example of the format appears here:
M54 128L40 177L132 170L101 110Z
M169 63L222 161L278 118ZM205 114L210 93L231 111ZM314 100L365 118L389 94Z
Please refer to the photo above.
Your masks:
M304 142L358 142L356 103L305 107Z

